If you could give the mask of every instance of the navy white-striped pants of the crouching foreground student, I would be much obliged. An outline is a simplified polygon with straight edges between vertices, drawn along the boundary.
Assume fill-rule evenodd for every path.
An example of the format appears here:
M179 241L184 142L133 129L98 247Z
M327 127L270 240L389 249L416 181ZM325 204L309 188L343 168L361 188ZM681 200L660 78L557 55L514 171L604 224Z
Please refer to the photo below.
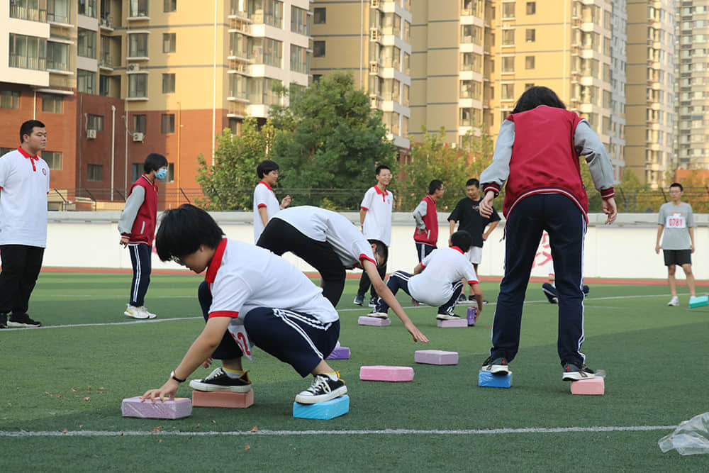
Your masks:
M200 284L198 297L204 321L207 321L212 304L207 282ZM340 321L322 323L307 313L272 307L257 307L246 313L244 328L257 347L288 363L302 377L311 374L320 361L333 352L340 338ZM212 354L216 360L242 356L229 331Z

